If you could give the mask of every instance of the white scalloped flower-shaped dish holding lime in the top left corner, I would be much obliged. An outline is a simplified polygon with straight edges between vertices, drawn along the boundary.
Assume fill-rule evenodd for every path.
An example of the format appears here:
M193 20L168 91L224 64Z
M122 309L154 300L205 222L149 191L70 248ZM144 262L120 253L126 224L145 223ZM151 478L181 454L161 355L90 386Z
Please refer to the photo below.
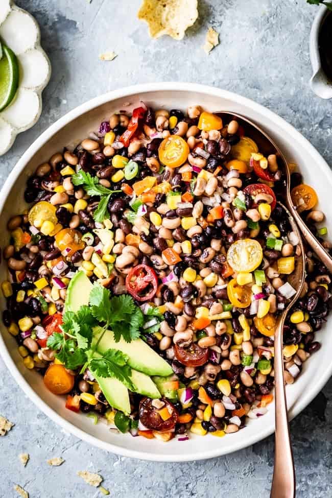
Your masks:
M36 20L11 0L0 0L0 38L16 54L19 84L13 102L0 112L0 156L13 145L16 135L39 119L41 92L51 76L51 64L40 46Z

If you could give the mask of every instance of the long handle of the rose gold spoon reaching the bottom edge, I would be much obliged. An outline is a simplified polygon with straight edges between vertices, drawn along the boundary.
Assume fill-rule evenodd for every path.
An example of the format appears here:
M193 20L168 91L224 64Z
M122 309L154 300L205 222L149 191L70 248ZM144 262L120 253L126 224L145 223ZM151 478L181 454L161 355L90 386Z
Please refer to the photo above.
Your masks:
M290 441L284 387L282 330L286 313L280 316L274 334L275 453L270 498L295 497L295 470Z

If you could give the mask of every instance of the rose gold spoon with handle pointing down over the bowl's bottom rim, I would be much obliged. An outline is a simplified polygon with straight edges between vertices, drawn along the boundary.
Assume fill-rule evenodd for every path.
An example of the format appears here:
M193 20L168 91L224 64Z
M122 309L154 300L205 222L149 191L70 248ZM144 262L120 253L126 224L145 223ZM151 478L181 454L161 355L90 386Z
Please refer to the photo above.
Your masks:
M295 269L288 276L287 281L296 293L291 297L286 308L277 319L274 333L274 396L275 396L275 449L274 470L270 498L294 498L295 496L295 470L292 446L289 433L287 400L284 387L282 336L283 325L287 314L298 299L305 279L305 256L300 232L288 209L278 203L288 214L292 230L298 237L297 249L300 254L295 255Z

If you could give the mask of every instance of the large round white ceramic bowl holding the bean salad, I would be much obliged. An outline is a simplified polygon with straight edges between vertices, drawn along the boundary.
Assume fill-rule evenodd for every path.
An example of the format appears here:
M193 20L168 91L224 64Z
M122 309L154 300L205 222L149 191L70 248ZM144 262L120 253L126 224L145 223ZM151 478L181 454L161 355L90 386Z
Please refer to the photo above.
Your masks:
M132 86L106 93L70 111L46 130L27 150L11 172L0 194L0 214L3 223L0 230L0 245L8 243L6 222L10 216L26 207L23 189L27 176L33 173L38 164L62 150L64 145L77 144L88 132L108 119L125 104L135 104L143 100L155 108L182 108L200 104L210 111L229 110L242 113L259 123L276 141L289 161L299 165L305 182L313 185L318 192L320 208L329 215L327 225L332 231L332 210L330 193L332 173L328 165L314 147L291 125L273 112L251 100L234 93L192 83L154 83ZM6 263L1 263L2 280L6 274ZM4 309L5 300L1 298ZM259 420L250 420L248 426L236 434L220 439L207 435L191 435L185 442L176 439L162 443L142 437L113 434L103 423L93 425L83 414L75 414L64 407L64 399L48 391L42 377L25 368L17 351L17 343L2 325L0 351L17 383L32 401L52 420L75 436L110 452L153 461L189 461L216 457L234 452L253 444L274 431L274 407ZM329 328L329 333L328 333ZM303 364L303 372L292 386L287 388L290 416L303 410L322 389L332 373L330 351L332 350L331 326L324 326L317 333L322 348ZM23 409L23 407L18 407Z

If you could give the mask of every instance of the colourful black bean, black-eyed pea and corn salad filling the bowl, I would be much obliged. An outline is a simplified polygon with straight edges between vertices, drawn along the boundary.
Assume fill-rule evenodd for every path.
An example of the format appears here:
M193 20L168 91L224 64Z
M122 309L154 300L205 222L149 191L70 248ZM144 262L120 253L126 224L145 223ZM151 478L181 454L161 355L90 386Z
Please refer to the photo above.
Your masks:
M330 251L314 189L295 170L291 181L294 205ZM223 437L264 415L274 330L296 292L287 278L300 251L277 202L285 185L275 154L264 157L236 118L199 105L140 102L56 152L28 178L29 207L9 220L3 249L3 322L24 365L66 395L66 408L132 436ZM110 296L131 296L143 317L136 340L171 367L164 377L142 369L160 396L129 389L128 413L91 369L68 368L50 347L54 334L72 337L63 314L77 272ZM283 330L287 384L320 348L331 305L330 275L308 248L306 272Z

